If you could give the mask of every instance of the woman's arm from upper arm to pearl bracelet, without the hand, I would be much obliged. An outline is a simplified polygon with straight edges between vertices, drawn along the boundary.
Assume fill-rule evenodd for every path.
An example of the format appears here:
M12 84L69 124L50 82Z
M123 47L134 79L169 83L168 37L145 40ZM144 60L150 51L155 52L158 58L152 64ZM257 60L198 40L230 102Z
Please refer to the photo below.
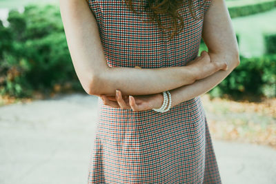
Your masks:
M171 90L172 107L212 90L240 63L237 39L224 0L212 0L204 15L202 37L208 47L210 59L227 61L228 70L219 70L193 84Z

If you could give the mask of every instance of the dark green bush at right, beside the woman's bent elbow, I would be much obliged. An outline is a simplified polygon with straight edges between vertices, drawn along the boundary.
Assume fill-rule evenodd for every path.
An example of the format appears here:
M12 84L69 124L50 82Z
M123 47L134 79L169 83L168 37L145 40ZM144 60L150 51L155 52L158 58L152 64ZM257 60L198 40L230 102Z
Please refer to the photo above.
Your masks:
M240 57L241 63L224 81L208 93L212 97L259 99L276 96L276 54L263 57Z

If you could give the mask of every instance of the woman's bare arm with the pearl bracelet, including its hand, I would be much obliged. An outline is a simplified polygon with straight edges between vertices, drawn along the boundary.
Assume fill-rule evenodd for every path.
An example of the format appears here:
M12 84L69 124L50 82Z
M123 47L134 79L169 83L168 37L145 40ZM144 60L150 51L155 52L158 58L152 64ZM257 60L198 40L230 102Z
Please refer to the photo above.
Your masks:
M204 79L195 81L193 84L170 90L172 107L215 88L239 65L237 39L224 1L212 0L210 8L204 15L203 39L208 46L211 61L227 61L229 69L226 71L220 70ZM163 103L161 93L142 96L142 98L139 97L139 100L136 100L137 96L134 97L135 100L119 94L116 99L114 96L103 96L103 99L106 105L122 109L132 108L134 111L148 110L148 107L159 108Z

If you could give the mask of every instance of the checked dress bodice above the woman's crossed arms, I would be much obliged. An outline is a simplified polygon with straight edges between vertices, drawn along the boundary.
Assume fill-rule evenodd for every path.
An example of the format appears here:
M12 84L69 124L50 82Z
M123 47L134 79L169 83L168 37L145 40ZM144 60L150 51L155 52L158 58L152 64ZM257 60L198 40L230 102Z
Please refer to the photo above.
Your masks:
M138 2L132 0L135 10ZM204 14L203 3L193 1L196 17ZM171 31L162 32L156 22L145 23L149 20L146 12L135 14L122 0L89 0L89 5L95 13L110 67L164 68L186 65L197 57L203 19L193 19L188 3L179 9L184 29L172 40L169 40ZM168 16L161 16L161 20L164 26L172 26Z

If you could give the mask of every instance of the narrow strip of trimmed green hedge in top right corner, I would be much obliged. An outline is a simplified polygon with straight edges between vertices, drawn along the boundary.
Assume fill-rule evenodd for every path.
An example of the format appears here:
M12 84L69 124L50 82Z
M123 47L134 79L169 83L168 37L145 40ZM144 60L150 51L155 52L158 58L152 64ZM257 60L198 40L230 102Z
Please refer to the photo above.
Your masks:
M268 10L272 10L276 6L276 0L255 1L254 3L247 3L246 1L244 2L245 3L243 3L243 1L232 1L227 3L231 18L244 17L250 14L266 12Z

